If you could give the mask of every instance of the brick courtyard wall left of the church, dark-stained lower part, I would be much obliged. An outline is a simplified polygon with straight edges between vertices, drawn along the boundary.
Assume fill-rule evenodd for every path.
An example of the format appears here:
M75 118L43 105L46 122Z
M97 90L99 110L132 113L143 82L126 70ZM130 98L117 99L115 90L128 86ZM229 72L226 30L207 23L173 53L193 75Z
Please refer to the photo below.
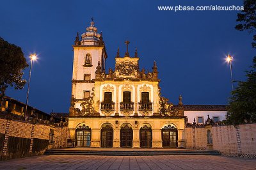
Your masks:
M42 155L47 149L66 146L67 126L40 125L0 118L1 160Z

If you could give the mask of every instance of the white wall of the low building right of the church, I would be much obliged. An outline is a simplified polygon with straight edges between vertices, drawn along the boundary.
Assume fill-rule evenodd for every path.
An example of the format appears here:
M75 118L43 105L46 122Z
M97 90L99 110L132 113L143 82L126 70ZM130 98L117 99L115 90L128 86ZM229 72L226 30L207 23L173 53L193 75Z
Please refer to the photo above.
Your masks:
M220 116L220 121L225 120L225 116L227 114L227 111L184 111L184 116L188 117L188 123L193 123L194 118L196 119L196 116L204 116L204 123L205 120L207 120L207 115L209 114L210 118L212 119L212 116ZM196 120L197 123L197 120Z

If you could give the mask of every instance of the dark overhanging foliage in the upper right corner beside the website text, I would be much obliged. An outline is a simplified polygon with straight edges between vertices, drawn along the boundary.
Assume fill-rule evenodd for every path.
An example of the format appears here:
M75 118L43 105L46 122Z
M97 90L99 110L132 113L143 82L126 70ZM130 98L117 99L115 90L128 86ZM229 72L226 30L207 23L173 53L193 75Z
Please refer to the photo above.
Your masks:
M249 33L255 33L256 31L256 1L244 0L244 10L241 13L237 13L236 29L239 31L248 30ZM252 47L256 48L256 35L253 35Z

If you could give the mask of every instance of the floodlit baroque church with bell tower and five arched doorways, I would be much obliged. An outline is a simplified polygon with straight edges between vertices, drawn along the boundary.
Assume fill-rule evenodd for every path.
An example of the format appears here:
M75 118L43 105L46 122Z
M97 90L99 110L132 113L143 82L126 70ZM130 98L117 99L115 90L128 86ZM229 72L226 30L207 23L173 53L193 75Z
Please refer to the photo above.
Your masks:
M119 49L115 70L106 71L108 54L94 22L74 42L72 98L68 131L75 147L184 148L182 97L173 105L161 95L156 61L140 69L138 52Z

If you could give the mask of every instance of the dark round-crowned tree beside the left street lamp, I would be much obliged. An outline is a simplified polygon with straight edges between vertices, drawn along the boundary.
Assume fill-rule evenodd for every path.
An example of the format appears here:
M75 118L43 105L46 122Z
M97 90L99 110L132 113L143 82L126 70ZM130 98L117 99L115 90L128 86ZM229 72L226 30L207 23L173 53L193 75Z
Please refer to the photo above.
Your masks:
M24 68L28 66L20 47L8 43L0 37L0 101L3 100L6 88L22 89L26 80L22 79Z

